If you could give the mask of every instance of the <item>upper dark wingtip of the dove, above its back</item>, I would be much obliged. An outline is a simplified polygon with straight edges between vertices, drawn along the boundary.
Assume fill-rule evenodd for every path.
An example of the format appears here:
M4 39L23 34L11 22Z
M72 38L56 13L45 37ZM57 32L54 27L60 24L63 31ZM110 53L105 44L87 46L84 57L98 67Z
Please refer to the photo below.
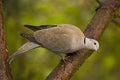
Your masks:
M33 31L57 27L57 25L40 25L40 26L24 25L24 26Z

